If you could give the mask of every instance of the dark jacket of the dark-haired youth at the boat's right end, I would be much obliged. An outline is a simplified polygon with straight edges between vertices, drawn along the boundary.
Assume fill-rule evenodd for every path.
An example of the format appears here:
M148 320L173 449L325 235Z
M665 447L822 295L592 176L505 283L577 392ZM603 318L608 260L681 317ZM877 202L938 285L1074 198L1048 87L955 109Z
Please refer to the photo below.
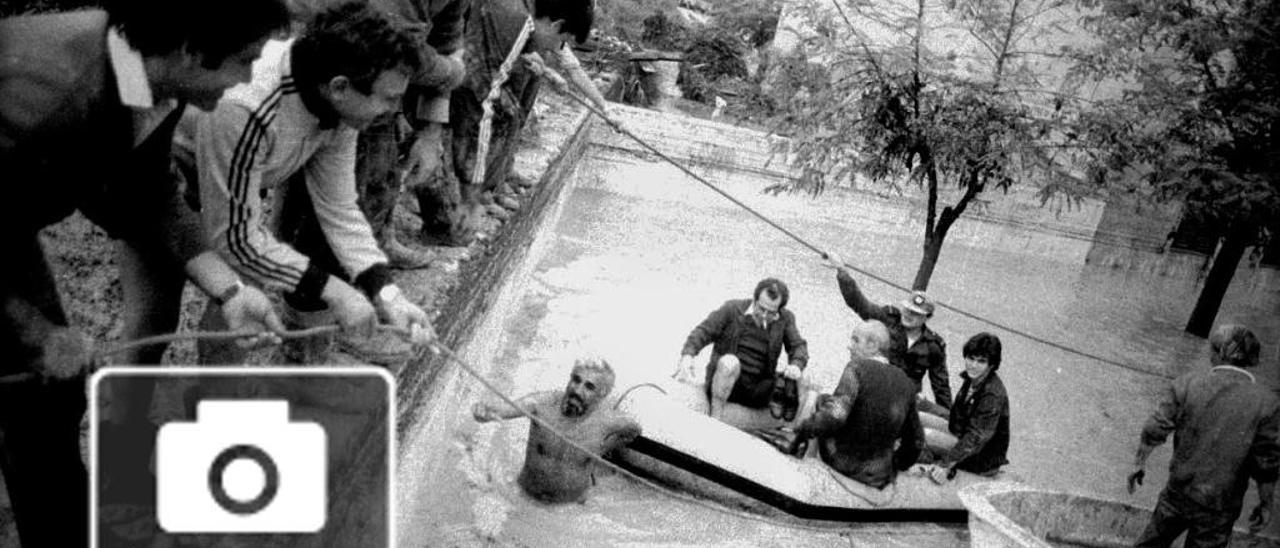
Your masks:
M961 373L964 385L951 406L947 429L956 444L947 461L974 474L988 474L1009 463L1009 394L996 371L988 373L974 385L968 373Z

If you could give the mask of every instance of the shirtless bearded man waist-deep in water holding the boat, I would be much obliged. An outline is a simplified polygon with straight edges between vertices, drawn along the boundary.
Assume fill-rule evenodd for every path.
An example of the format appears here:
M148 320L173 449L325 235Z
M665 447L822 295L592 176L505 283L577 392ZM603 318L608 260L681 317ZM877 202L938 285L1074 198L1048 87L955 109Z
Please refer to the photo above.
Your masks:
M625 447L640 435L640 425L618 411L598 408L613 391L613 367L600 357L579 359L564 392L525 396L515 408L507 403L477 402L471 414L489 423L529 415L525 466L517 483L544 502L580 502L594 483L593 457ZM576 444L577 447L573 447Z

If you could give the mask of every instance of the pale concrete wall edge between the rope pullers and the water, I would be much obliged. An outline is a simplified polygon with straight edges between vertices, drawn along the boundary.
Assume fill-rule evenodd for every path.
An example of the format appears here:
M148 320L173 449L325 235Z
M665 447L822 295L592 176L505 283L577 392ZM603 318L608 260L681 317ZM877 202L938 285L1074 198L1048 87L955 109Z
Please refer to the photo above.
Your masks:
M559 111L552 113L553 109ZM539 124L536 146L524 146L516 163L517 174L538 181L534 193L503 225L490 252L463 268L436 321L444 344L486 376L492 353L502 337L500 326L511 311L508 307L518 305L512 294L524 286L536 262L529 259L536 255L548 227L559 218L566 183L590 145L594 125L585 109L573 108L559 97ZM443 356L406 367L398 382L397 431L402 443L394 472L396 512L404 544L410 535L403 531L412 530L413 516L421 515L412 507L415 501L421 501L416 494L428 487L424 483L431 467L440 465L442 453L452 443L448 431L452 421L433 419L452 414L458 402L468 401L484 388Z

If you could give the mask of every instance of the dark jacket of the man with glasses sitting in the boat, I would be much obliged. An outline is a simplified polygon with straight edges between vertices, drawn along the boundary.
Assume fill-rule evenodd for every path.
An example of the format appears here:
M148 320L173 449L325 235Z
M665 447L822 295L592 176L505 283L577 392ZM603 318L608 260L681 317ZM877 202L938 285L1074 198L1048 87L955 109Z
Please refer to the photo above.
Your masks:
M726 301L689 333L681 353L698 356L698 352L701 352L707 344L712 343L716 344L712 347L712 364L716 364L726 353L737 353L737 337L745 325L744 323L750 321L750 316L745 314L750 306L750 298ZM744 373L755 376L773 376L783 348L786 348L787 360L791 364L800 369L804 369L809 364L809 343L800 337L800 330L796 329L795 314L791 314L787 309L778 310L778 319L771 323L768 329L769 350L765 355L765 369L755 371L748 369L749 365L744 364Z

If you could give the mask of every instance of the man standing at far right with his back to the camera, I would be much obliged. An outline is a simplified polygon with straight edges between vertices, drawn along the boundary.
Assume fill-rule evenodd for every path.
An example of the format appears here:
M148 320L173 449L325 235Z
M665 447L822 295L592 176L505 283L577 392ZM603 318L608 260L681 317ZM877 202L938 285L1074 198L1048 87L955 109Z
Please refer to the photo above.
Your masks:
M1139 547L1167 547L1187 531L1187 547L1225 547L1252 478L1258 506L1249 526L1271 520L1280 474L1280 401L1249 371L1261 346L1253 332L1222 325L1210 335L1212 367L1179 376L1142 429L1129 492L1147 457L1174 434L1169 484L1160 493Z

